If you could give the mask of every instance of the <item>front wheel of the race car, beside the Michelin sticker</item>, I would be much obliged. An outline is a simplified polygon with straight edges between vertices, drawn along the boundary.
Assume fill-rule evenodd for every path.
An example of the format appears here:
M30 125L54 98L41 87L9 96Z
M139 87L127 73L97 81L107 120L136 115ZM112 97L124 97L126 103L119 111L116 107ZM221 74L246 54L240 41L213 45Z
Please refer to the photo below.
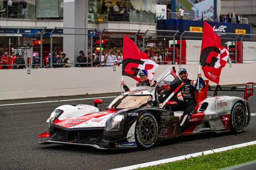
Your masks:
M150 149L158 137L158 125L152 113L140 114L135 126L135 140L140 149Z

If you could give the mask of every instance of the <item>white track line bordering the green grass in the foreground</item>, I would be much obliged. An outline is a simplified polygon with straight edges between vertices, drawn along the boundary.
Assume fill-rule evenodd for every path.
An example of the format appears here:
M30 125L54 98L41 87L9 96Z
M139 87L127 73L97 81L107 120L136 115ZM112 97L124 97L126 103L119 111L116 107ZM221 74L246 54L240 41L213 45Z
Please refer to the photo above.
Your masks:
M222 147L222 148L213 149L213 150L207 150L207 151L203 151L203 153L204 153L204 155L208 155L208 154L212 154L212 153L216 153L216 152L223 152L223 151L226 151L226 150L239 148L239 147L244 147L244 146L249 146L249 145L253 145L253 144L256 144L256 141L236 144L236 145L233 145L233 146L227 146L227 147ZM116 169L112 169L112 170L133 170L133 169L137 169L137 168L143 168L143 167L148 167L148 166L165 164L165 163L168 163L168 162L180 161L180 160L183 160L185 158L188 159L191 156L192 157L197 157L197 156L201 156L201 155L202 155L202 152L192 153L192 154L189 154L189 155L177 156L177 157L174 157L174 158L162 159L162 160L159 160L159 161L153 161L153 162L147 162L147 163L143 163L143 164L131 165L131 166L128 166L128 167L116 168Z

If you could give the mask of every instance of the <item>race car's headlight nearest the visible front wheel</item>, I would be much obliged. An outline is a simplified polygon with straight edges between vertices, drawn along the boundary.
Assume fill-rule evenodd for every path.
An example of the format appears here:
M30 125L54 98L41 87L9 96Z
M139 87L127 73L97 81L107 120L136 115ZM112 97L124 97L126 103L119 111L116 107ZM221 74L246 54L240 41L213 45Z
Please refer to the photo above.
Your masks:
M120 131L122 121L125 119L124 113L115 113L106 122L106 131Z

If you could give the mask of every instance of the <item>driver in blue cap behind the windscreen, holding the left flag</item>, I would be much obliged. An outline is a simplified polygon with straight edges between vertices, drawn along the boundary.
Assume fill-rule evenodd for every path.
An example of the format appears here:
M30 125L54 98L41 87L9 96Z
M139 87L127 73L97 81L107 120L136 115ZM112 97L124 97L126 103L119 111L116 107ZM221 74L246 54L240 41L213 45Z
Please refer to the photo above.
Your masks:
M148 71L140 70L138 75L140 76L140 82L136 84L136 87L154 86L154 81L148 80ZM123 89L125 89L125 92L130 91L130 89L125 85L124 81L121 81L121 86L123 86Z

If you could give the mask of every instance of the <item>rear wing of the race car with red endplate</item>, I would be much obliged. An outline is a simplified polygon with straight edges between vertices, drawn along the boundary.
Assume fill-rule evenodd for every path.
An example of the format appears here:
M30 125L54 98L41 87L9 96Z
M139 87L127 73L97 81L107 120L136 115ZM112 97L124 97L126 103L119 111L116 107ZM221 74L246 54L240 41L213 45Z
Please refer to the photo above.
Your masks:
M217 85L216 87L208 86L208 91L214 91L213 96L218 95L218 91L237 91L244 92L244 99L248 100L250 96L253 96L253 82L247 83L245 87L222 87L221 85Z

